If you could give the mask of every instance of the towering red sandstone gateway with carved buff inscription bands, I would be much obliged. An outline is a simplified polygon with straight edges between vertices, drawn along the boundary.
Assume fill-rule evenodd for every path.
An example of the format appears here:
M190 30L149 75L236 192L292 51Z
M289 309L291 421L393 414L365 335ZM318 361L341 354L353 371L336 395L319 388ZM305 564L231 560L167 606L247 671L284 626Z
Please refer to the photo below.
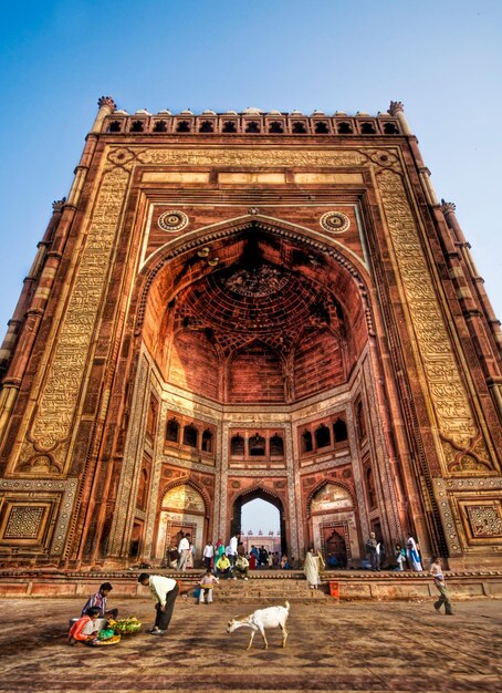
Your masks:
M357 567L373 529L500 566L499 322L402 105L100 100L0 351L0 557L161 563L242 505Z

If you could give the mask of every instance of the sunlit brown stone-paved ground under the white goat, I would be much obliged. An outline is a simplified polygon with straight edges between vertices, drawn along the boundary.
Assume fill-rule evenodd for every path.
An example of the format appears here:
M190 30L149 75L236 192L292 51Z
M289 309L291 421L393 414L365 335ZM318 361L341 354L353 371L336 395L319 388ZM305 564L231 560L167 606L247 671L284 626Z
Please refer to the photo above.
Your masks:
M122 616L151 624L147 599L115 602ZM124 637L109 648L69 647L66 622L81 600L4 599L0 691L502 691L502 601L456 604L438 616L431 602L293 604L290 639L268 632L270 649L249 631L226 633L237 612L181 599L168 635Z

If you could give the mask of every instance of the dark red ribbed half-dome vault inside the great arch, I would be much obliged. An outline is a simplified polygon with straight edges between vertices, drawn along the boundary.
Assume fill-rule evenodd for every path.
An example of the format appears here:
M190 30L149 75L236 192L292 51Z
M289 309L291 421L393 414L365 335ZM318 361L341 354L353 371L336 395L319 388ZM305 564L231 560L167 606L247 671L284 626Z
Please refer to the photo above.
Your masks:
M200 271L197 254L188 258L177 275L185 286L165 303L156 343L167 382L248 404L293 402L346 382L356 350L333 291L339 270L255 227L211 247L216 256L212 271ZM354 318L360 322L360 304Z

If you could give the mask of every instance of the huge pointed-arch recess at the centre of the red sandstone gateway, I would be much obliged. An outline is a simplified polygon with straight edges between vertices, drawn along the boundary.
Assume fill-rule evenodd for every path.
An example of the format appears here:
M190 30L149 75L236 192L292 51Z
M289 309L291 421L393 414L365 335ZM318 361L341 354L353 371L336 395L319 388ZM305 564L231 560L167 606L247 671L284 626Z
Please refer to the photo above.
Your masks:
M205 540L227 541L241 529L245 499L263 497L281 513L281 550L301 558L308 494L326 476L357 498L352 556L370 523L396 536L389 475L375 473L365 489L365 470L388 454L369 405L376 377L363 288L333 247L260 220L156 259L138 304L132 406L136 415L151 391L159 402L146 537L163 510L157 479L187 474L207 493ZM137 418L130 426L144 425ZM135 445L130 437L126 452Z

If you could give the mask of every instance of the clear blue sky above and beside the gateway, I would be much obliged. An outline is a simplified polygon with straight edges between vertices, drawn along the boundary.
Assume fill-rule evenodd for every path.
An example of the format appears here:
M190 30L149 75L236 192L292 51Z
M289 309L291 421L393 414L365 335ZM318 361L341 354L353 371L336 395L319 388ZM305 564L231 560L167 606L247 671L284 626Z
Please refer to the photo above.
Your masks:
M8 3L0 27L0 330L96 100L129 112L405 103L502 316L500 0Z

